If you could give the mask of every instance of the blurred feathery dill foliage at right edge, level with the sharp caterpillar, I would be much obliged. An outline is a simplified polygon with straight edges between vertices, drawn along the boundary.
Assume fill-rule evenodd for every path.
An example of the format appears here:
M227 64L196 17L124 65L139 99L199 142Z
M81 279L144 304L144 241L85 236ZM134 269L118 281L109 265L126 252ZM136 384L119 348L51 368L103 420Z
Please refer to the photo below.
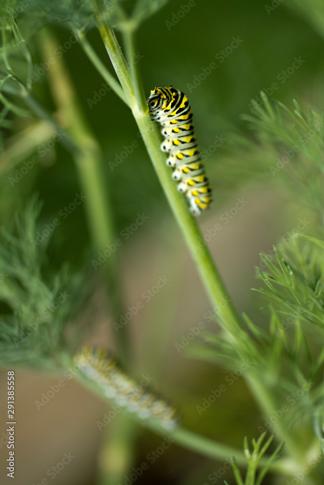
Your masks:
M258 178L267 185L272 183L276 190L289 189L294 196L298 193L298 198L302 197L322 220L324 116L311 107L306 114L297 101L293 103L296 109L291 111L262 91L259 100L251 100L251 114L241 118L253 131L253 137L235 128L227 130L226 173L221 177L232 184Z

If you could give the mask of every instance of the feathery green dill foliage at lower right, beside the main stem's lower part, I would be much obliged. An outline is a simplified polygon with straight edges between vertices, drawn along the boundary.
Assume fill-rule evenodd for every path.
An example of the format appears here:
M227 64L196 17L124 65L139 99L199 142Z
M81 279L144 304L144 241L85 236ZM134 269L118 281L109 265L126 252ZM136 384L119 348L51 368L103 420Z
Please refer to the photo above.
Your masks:
M303 235L297 239L280 253L274 247L274 261L261 255L266 270L259 270L259 276L266 287L256 291L268 301L263 308L268 325L243 314L245 325L230 341L219 320L224 332L205 332L205 343L192 345L189 352L230 371L242 369L248 359L246 376L262 377L273 394L273 410L287 404L289 412L281 420L308 440L312 427L321 436L316 423L324 412L324 242ZM263 432L267 426L260 422L258 429Z

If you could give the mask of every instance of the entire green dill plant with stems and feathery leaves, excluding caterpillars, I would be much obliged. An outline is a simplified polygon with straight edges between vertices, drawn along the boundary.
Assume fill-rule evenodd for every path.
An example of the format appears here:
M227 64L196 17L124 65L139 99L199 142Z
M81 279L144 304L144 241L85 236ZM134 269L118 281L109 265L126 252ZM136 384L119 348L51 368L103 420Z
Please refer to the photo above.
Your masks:
M209 300L213 307L219 308L218 332L205 332L203 339L192 346L191 356L215 363L226 370L234 370L243 359L250 358L253 365L244 373L244 378L262 414L268 417L273 410L280 409L287 395L292 396L306 383L308 385L307 392L291 405L287 416L273 424L272 431L278 443L272 453L267 454L273 436L264 443L266 430L262 423L258 429L260 436L256 436L252 442L252 452L246 438L241 451L183 427L171 431L171 436L178 445L206 457L232 457L238 485L261 485L267 471L289 479L296 473L304 473L302 470L309 467L311 460L321 453L323 447L324 242L316 237L297 235L287 247L274 248L273 260L262 256L265 269L259 270L258 274L263 286L257 291L267 302L264 323L256 324L248 315L240 317L237 314L207 246L200 244L202 235L196 220L190 215L182 194L171 183L165 155L160 150L159 131L148 114L139 66L132 62L136 54L136 31L165 3L165 0L138 0L129 11L113 1L65 0L50 4L34 0L23 12L21 24L32 26L34 31L42 28L37 35L45 56L55 46L55 38L50 30L44 29L44 25L55 25L57 22L65 25L104 81L129 107L130 116L133 115L137 123ZM9 1L1 6L1 127L11 129L11 120L16 116L37 118L39 121L35 121L34 129L44 139L53 130L64 129L62 143L75 162L81 187L89 194L86 201L87 224L93 250L98 250L107 241L114 241L113 210L103 183L100 147L72 94L72 84L62 63L57 62L49 73L52 96L61 113L64 113L61 118L48 113L33 97L33 56L22 33L20 19L17 20L15 7L17 3ZM319 12L319 7L314 1L309 9L309 17L314 19L316 12ZM316 24L320 28L321 23ZM97 27L100 32L118 81L87 40L87 32L92 27ZM120 33L123 50L119 46L116 30ZM258 163L263 163L264 171L273 175L273 182L280 178L280 183L284 183L291 193L300 194L322 224L323 115L312 109L306 115L296 101L296 110L292 112L282 103L270 100L264 93L260 96L263 106L255 102L253 114L244 116L256 133L256 141L247 140L241 134L232 134L233 153L239 148L247 157L252 156ZM45 125L42 124L44 122ZM307 143L302 144L300 137L304 134L309 136ZM26 154L22 145L17 142L17 162ZM274 165L273 161L278 155L285 150L291 151L294 146L298 150L293 150L294 162L287 165L288 170ZM266 157L261 155L264 150L268 154ZM2 160L8 160L6 152ZM13 168L10 163L10 166L2 167L4 172ZM53 274L51 281L44 278L42 265L46 264L47 245L37 246L36 251L32 251L29 244L35 238L39 212L40 206L33 198L24 216L17 218L12 234L4 233L0 246L0 270L3 275L0 296L7 310L0 323L1 364L64 369L72 362L73 353L81 343L75 337L75 324L71 322L80 309L80 294L86 288L85 277L63 266L57 274ZM111 258L102 269L114 314L119 314L123 305L117 283L117 264L117 259ZM42 309L50 307L58 299L62 288L68 288L71 295L67 304L62 303L55 313L48 314L33 332L29 331L30 335L24 340L22 337L27 335L27 322L37 321ZM221 305L223 301L228 304ZM129 351L125 330L118 335L118 352L128 367ZM91 379L81 373L77 379L101 395L100 388ZM124 426L122 416L120 418ZM162 426L151 420L138 422L159 435L165 433ZM125 436L132 440L130 434L125 433ZM123 446L126 446L125 443ZM238 465L246 468L244 481ZM320 484L320 477L318 466L303 476L303 483ZM104 476L102 480L103 483L114 483L109 476Z

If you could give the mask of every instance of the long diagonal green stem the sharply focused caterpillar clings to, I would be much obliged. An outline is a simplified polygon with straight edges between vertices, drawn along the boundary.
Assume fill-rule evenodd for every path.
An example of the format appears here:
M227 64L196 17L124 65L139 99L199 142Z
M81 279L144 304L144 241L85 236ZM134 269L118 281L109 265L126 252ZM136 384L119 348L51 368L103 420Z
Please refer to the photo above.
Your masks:
M218 315L224 323L228 336L232 339L233 343L240 348L242 343L240 339L242 327L239 316L232 305L232 301L228 296L222 278L205 244L196 220L189 213L185 198L176 190L174 183L171 180L170 169L167 167L165 156L160 149L160 135L158 129L155 124L151 122L148 112L141 113L137 107L133 82L127 63L111 26L108 22L103 22L102 20L101 4L99 1L96 1L94 14L108 55L115 68L117 76L119 77L120 84L129 100L133 115L153 162L157 176L169 201L174 217L182 230L210 302L213 306L216 306L219 309ZM250 383L253 382L253 385L250 385L250 389L256 401L260 408L268 415L269 411L273 410L273 400L269 398L266 386L263 385L260 378L256 375L250 374L249 381ZM287 450L289 453L296 458L296 461L301 459L303 453L299 450L298 445L296 446L294 444L289 431L285 429L284 426L279 426L279 430L282 439L288 443Z

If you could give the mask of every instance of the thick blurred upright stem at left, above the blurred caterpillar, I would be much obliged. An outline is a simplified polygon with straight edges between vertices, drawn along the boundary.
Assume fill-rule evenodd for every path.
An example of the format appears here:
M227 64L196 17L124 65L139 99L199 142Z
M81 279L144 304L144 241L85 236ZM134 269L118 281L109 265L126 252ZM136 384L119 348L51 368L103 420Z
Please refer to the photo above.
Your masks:
M45 55L46 52L51 53L55 49L55 41L51 38L49 32L42 32L42 41ZM58 61L52 66L49 80L54 98L66 125L66 131L73 144L78 148L77 151L72 152L72 155L76 163L81 187L86 196L85 210L92 246L94 251L100 252L106 244L116 239L112 210L104 183L100 147L87 126L62 61ZM116 318L120 313L123 313L123 306L119 293L117 260L114 256L105 261L102 266L102 274L107 285L113 317ZM128 363L129 358L127 330L126 327L123 327L116 334L118 353L125 364Z

